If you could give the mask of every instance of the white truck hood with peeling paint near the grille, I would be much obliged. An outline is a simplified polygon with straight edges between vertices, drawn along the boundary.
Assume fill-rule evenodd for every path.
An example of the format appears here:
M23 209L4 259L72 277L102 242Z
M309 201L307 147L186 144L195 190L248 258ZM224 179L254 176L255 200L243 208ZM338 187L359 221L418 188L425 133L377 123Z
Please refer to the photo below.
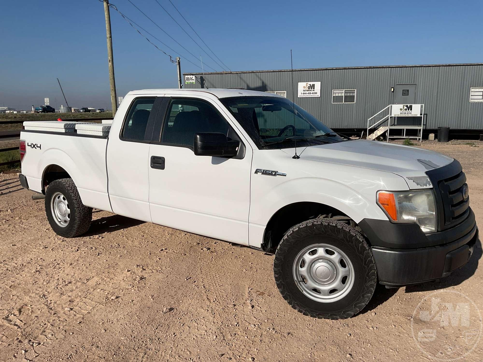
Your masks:
M293 155L295 150L282 151ZM392 172L403 177L410 189L432 187L426 171L453 161L453 158L433 151L363 139L305 147L299 149L298 154L313 161Z

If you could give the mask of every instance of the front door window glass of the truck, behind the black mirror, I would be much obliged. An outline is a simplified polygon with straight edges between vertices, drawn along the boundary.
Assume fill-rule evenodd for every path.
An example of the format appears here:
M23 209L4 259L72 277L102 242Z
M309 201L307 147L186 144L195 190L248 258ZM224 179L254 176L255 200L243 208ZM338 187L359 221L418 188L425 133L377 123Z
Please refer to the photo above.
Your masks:
M197 99L171 99L161 132L161 142L193 147L198 132L228 135L227 121L207 102Z

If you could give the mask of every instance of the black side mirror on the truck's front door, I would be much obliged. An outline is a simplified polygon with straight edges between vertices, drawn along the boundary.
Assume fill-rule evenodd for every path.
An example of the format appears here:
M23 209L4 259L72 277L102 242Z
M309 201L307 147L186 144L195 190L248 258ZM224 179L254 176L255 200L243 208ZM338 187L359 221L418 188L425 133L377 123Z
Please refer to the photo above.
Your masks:
M194 151L197 156L236 156L240 141L228 140L223 133L195 134Z

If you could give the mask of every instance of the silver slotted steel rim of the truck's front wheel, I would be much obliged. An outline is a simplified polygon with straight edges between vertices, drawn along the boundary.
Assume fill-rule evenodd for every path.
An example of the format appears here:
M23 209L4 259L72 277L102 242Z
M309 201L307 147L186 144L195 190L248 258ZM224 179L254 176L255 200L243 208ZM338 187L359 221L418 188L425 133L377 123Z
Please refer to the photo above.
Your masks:
M293 275L298 289L317 302L335 302L354 284L351 261L339 248L328 244L313 244L300 251Z

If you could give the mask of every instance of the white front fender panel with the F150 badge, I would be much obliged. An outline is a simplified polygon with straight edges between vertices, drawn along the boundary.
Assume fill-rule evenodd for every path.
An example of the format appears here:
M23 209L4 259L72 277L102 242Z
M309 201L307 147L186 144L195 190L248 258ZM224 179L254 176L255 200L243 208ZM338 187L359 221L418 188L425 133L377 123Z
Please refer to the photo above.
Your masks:
M408 190L404 179L394 173L345 165L312 167L287 172L287 176L252 173L249 243L261 247L265 227L280 209L298 202L316 202L341 211L356 223L364 218L387 220L376 204L378 190ZM276 168L275 168L276 169ZM285 171L285 170L284 170ZM290 178L291 174L300 174Z

